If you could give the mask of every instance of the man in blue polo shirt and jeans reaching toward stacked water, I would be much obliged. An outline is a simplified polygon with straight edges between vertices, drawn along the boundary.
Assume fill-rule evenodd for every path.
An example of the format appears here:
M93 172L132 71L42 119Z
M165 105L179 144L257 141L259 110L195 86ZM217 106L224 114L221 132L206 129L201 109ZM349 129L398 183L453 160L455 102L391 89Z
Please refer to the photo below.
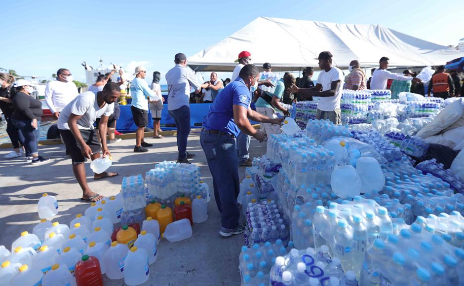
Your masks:
M238 222L239 192L238 158L235 138L241 131L262 142L265 134L254 129L248 118L263 123L280 124L283 118L269 118L251 110L251 94L258 87L259 71L254 65L244 66L237 79L216 97L203 121L200 143L213 177L214 197L221 213L219 234L229 237L242 233ZM245 206L243 206L245 207Z

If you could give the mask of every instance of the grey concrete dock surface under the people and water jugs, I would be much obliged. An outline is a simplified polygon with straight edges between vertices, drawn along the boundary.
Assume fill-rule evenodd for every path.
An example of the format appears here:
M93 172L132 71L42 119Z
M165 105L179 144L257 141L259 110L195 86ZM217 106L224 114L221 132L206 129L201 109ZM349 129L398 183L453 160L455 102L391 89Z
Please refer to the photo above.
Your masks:
M110 197L119 192L123 177L142 174L153 169L156 163L177 159L175 135L164 139L146 138L154 143L147 153L134 153L135 139L110 144L115 178L94 180L89 163L86 163L87 180L91 189ZM11 149L0 149L0 245L11 248L12 242L22 231L32 233L39 223L37 203L43 193L57 198L59 214L52 221L68 224L76 214L84 213L89 203L80 201L81 189L74 178L71 158L65 155L63 144L39 146L39 154L51 162L39 166L26 163L25 158L4 159ZM199 143L199 130L189 136L188 151L196 155L191 162L200 167L202 179L212 190L211 173ZM251 141L250 155L262 156L266 142ZM239 168L240 180L245 168ZM214 193L212 192L212 196ZM193 224L193 236L185 241L170 243L161 239L158 258L150 267L150 279L145 285L239 285L238 255L244 243L243 235L223 238L219 235L220 214L214 198L208 204L209 218L206 222ZM125 285L123 280L109 280L104 275L105 285Z

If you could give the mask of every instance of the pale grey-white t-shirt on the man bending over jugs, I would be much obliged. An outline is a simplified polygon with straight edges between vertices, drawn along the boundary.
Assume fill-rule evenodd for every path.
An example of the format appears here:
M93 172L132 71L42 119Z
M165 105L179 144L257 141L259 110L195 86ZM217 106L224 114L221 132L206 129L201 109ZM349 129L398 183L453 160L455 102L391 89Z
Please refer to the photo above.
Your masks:
M102 115L110 116L114 112L114 108L114 103L105 104L103 108L98 107L97 96L91 91L83 92L63 108L60 117L58 117L58 129L70 129L68 120L71 113L82 115L77 120L79 129L94 129L93 123L95 123L95 120Z

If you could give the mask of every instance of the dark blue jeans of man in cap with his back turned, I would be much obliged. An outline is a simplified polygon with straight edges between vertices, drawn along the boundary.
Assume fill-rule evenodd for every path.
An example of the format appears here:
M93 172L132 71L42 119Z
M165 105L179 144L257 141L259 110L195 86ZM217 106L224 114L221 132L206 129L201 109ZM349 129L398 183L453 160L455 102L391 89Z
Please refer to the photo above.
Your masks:
M169 110L169 114L174 118L177 127L177 150L179 160L187 158L187 138L190 134L190 107L183 106L174 110Z

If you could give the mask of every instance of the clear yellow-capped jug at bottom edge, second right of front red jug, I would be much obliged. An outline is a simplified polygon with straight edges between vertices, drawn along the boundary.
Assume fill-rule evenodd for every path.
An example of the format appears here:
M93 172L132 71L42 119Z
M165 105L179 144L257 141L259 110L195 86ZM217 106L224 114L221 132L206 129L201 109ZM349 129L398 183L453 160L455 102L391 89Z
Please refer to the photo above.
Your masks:
M189 223L190 225L190 223ZM150 263L145 249L132 247L124 260L124 283L127 285L140 285L148 281L150 276Z

